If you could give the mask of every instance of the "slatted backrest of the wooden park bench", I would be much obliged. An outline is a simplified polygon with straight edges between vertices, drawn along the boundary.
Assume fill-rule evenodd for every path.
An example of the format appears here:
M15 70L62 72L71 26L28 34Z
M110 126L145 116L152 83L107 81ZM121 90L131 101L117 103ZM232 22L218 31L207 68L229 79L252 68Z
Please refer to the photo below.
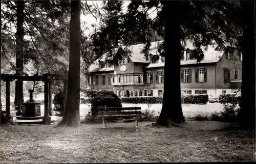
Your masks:
M97 108L98 116L104 115L140 115L141 107L102 107Z

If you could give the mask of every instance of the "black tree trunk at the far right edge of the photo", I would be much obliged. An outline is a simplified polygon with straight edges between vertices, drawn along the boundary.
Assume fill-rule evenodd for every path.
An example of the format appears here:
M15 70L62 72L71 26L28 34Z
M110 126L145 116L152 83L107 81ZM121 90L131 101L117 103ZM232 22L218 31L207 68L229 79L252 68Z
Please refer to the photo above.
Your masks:
M255 30L254 1L240 1L243 9L243 69L241 110L239 122L243 127L255 131Z

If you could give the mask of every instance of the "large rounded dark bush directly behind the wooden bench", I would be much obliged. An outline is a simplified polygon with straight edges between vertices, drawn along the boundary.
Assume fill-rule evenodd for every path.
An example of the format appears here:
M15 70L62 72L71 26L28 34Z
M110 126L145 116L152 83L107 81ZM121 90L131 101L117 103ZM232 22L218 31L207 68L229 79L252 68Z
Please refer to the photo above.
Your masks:
M122 107L120 98L114 92L89 90L86 91L86 95L91 103L91 112L93 117L97 116L97 108L99 107Z

